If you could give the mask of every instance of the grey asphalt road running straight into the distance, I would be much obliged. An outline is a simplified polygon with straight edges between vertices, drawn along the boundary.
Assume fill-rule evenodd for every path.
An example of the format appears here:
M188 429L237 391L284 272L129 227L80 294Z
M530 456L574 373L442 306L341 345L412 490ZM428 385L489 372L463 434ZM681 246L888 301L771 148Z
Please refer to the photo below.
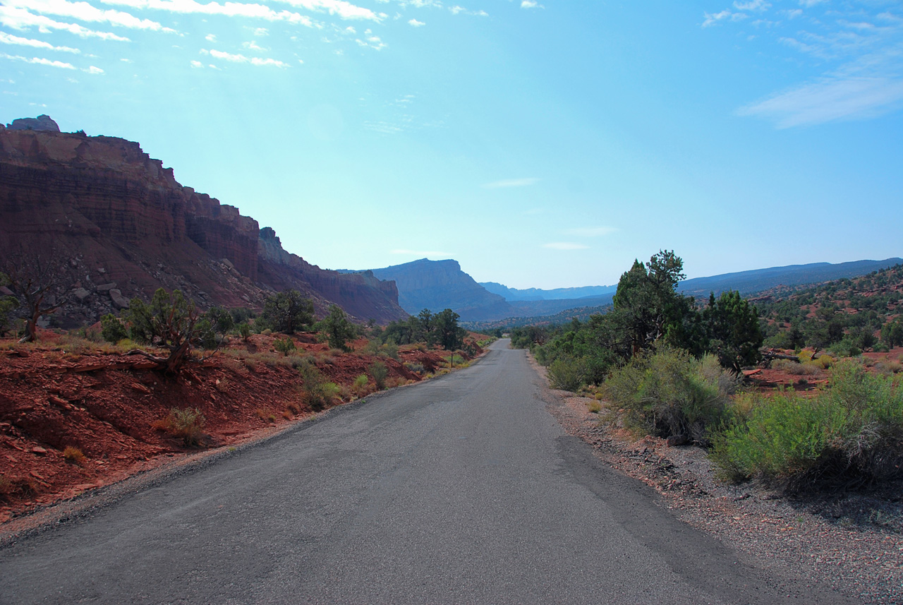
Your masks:
M847 602L676 520L540 395L500 340L6 546L0 602Z

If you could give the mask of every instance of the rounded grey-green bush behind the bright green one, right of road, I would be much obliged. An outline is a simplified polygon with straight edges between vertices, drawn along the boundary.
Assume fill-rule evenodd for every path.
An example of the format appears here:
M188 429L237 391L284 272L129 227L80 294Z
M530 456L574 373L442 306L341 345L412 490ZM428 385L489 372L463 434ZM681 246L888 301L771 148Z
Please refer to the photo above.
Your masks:
M663 348L613 370L604 391L635 433L708 445L738 384L717 358Z

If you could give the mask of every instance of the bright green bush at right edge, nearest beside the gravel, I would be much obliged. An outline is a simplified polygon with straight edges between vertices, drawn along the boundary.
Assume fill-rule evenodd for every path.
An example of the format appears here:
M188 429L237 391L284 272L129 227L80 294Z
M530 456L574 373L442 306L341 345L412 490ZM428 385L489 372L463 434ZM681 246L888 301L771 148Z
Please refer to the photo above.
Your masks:
M903 475L903 389L853 360L829 384L812 399L781 393L733 410L712 451L724 477L801 491Z

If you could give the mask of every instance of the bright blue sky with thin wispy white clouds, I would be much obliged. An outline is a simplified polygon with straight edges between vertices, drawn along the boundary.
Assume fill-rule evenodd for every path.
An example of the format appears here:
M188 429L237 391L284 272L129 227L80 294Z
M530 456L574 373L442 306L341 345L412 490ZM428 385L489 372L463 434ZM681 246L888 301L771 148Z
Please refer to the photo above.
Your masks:
M325 268L903 256L898 1L0 4L0 120L138 141Z

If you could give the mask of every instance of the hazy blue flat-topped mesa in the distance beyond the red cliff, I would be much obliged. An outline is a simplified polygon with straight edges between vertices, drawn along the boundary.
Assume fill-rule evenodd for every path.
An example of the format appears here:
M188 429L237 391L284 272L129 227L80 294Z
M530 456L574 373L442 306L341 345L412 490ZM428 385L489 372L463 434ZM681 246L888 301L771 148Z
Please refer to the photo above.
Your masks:
M398 301L409 313L422 309L433 312L452 309L464 321L485 321L517 314L504 298L490 293L461 271L456 260L422 258L404 265L374 269L372 273L379 279L397 284Z

